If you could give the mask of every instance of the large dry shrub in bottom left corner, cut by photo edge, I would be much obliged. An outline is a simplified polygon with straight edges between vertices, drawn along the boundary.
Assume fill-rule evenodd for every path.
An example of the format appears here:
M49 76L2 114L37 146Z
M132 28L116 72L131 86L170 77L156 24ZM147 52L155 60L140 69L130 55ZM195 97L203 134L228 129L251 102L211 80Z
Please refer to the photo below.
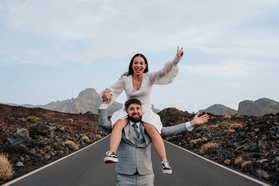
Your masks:
M15 171L12 170L12 165L8 158L3 153L0 154L0 180L7 180L12 178Z

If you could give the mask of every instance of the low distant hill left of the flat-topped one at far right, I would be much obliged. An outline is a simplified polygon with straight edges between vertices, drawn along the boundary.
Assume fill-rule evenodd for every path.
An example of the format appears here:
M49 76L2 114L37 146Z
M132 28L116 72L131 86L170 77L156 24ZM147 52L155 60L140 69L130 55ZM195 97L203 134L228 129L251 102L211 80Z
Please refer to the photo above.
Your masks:
M204 110L198 110L198 112L203 113L203 112L208 112L212 113L214 115L235 115L237 113L237 110L234 110L232 108L226 107L225 105L221 104L214 104Z

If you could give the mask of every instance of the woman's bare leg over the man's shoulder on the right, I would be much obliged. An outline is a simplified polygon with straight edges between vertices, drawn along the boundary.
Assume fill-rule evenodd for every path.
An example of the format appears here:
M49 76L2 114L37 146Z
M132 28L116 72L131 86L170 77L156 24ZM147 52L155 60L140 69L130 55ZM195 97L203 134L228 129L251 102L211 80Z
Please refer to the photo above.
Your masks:
M161 135L158 133L158 130L153 125L145 123L143 121L142 121L142 125L144 126L147 134L151 137L154 149L159 155L161 161L167 161L164 142Z

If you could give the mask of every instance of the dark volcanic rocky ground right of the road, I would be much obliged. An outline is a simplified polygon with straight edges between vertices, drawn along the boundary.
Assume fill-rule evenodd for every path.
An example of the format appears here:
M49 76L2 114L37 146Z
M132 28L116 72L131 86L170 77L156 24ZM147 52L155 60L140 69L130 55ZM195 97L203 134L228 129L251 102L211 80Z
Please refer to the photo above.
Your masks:
M194 118L194 114L176 108L167 108L157 114L163 126ZM166 140L279 185L279 112L262 117L208 114L208 123ZM210 143L216 144L211 146L210 153L204 153L204 144Z

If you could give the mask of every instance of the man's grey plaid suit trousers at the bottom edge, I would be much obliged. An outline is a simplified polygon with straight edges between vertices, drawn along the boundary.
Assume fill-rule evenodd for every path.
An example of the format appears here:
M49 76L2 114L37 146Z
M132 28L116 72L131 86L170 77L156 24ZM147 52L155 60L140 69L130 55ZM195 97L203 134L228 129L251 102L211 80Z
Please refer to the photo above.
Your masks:
M140 175L138 172L132 175L120 174L116 176L117 186L153 186L154 174Z

